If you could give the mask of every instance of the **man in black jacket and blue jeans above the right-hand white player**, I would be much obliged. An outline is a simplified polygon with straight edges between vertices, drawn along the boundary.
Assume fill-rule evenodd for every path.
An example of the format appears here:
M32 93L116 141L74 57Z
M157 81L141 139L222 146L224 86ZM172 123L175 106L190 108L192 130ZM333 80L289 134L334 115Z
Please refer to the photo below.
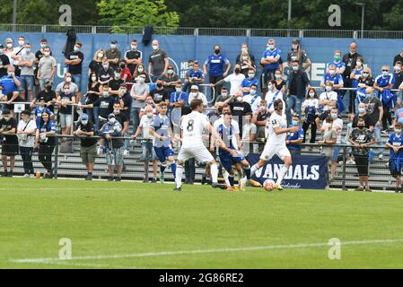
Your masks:
M285 100L287 104L285 114L288 122L291 122L292 110L294 114L302 114L302 100L305 97L306 88L310 86L308 74L302 71L299 61L292 62L292 69L293 72L288 75L287 99Z

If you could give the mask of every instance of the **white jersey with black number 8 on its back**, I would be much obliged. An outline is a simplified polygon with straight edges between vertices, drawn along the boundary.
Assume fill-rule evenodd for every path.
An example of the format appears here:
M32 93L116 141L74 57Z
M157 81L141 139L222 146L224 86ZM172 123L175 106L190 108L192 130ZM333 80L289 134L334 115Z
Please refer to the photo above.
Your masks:
M210 124L208 118L197 111L183 117L181 129L183 131L182 147L205 146L203 144L203 131Z

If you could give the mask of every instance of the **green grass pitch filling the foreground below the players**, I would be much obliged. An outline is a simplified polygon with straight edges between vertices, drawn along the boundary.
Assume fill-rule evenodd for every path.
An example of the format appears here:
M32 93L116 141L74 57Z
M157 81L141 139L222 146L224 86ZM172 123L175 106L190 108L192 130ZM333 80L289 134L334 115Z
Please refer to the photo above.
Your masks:
M1 178L0 268L403 267L402 195L172 189Z

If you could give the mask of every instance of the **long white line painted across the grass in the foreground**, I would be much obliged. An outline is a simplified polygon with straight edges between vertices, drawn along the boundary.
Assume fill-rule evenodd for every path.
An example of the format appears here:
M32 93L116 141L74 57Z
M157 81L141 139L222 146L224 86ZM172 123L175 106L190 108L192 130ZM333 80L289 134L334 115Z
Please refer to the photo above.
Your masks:
M386 243L403 243L403 239L346 241L341 242L341 245L370 245L370 244L386 244ZM293 249L293 248L322 248L322 247L329 247L329 243L291 244L291 245L272 245L272 246L250 247L250 248L217 248L217 249L190 250L190 251L162 251L162 252L146 252L146 253L132 253L132 254L120 254L120 255L101 255L101 256L73 257L71 260L68 261L122 259L122 258L136 258L136 257L169 257L177 255L246 252L246 251ZM25 258L25 259L13 259L9 260L9 262L51 264L57 262L66 262L66 260L62 260L59 258Z

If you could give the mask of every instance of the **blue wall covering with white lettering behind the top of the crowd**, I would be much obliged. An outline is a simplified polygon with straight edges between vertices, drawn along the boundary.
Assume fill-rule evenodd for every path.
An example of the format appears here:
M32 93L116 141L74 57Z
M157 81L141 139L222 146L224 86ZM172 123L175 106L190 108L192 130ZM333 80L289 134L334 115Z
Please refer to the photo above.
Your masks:
M64 65L63 48L66 44L65 33L11 33L0 31L0 42L8 37L13 38L14 42L18 36L23 35L33 45L33 51L39 48L39 41L42 38L48 39L51 43L53 56L57 59L57 83L60 83L63 75L66 73ZM141 35L127 34L78 34L78 41L83 42L83 74L88 74L88 65L90 64L94 52L98 48L110 48L110 40L118 40L118 48L124 52L130 47L130 41L137 39L139 41L139 49L144 53L145 65L148 63L148 56L151 52L151 46L144 47L141 43ZM212 53L215 44L223 47L223 54L228 57L232 64L240 53L241 43L248 43L251 53L260 59L264 49L266 48L267 38L264 37L211 37L211 36L157 36L153 39L160 41L161 48L168 52L171 62L176 66L177 71L183 77L187 70L188 59L197 59L204 62L206 57ZM290 49L290 38L276 38L277 46L283 51L283 60L286 61L286 53ZM311 81L314 85L320 83L323 75L325 64L332 60L333 52L336 49L342 50L343 54L348 51L349 44L353 39L318 39L305 38L302 39L302 48L311 58L312 66L309 72ZM380 74L381 65L392 65L393 57L399 54L403 48L403 39L356 39L358 44L358 52L364 55L366 65L372 68L374 75ZM287 73L287 69L286 69ZM87 77L83 77L83 87L87 83Z

